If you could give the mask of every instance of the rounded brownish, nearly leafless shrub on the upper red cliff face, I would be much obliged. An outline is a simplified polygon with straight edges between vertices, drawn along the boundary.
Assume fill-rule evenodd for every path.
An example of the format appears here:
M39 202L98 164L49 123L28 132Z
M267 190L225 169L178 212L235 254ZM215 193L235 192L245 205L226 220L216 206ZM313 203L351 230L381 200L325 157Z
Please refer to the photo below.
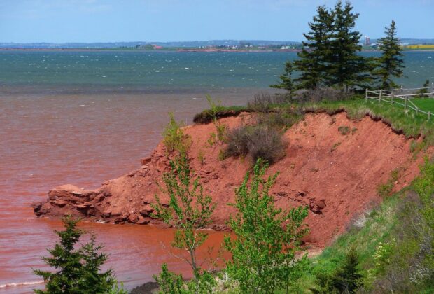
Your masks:
M270 165L285 155L286 143L282 132L267 125L242 126L228 132L225 140L225 157L251 155L252 162L258 158Z

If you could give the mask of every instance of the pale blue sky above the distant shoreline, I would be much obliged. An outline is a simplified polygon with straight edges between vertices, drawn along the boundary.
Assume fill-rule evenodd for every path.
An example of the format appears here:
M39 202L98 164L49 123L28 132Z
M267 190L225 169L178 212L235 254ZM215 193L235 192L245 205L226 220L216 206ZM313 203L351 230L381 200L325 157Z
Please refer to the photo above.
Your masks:
M356 29L434 38L434 0L353 0ZM0 0L0 42L302 41L318 5L335 0Z

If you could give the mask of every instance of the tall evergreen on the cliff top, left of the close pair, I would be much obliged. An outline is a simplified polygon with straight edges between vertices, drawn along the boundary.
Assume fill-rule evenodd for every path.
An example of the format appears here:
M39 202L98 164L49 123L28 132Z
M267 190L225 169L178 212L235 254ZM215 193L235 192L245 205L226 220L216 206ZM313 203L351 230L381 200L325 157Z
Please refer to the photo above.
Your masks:
M302 52L297 53L300 59L294 65L300 71L300 77L295 79L298 89L315 89L328 80L327 71L330 52L330 33L332 30L332 15L325 6L316 8L317 15L309 22L310 31L304 34Z

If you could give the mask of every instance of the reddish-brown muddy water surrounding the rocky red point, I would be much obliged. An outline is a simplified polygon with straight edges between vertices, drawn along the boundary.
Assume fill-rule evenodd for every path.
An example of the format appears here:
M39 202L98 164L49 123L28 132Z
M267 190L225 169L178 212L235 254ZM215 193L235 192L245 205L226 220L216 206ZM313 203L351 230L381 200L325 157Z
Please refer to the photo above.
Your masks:
M215 95L223 104L245 104L251 94L227 90ZM206 106L200 94L0 94L0 293L43 287L31 268L44 268L40 257L57 239L52 230L61 227L58 220L35 218L32 202L61 184L97 188L136 169L160 141L168 111L190 123ZM162 246L169 246L171 230L83 226L104 243L107 266L129 289L153 281L162 262L188 272L188 265ZM208 244L220 244L222 237L212 232Z

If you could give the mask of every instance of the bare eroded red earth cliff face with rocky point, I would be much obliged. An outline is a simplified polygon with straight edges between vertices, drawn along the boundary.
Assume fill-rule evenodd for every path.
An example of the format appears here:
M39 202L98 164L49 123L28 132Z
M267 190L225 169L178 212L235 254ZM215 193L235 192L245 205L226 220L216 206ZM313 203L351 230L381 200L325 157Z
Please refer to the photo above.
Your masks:
M251 114L241 113L220 122L233 128L252 119ZM352 132L342 135L340 126ZM208 143L209 135L216 132L212 123L192 125L185 132L192 140L190 164L217 204L211 228L225 230L225 221L235 212L228 203L235 201L235 188L248 171L250 160L219 160L223 144ZM311 233L305 241L314 246L325 246L345 230L352 218L379 202L377 188L390 179L391 171L399 170L395 190L409 185L419 173L422 156L412 158L410 141L369 117L353 121L345 113L307 114L284 137L289 143L286 157L268 169L269 174L280 172L271 193L278 207L309 206L306 223ZM165 147L159 144L149 157L141 159L139 169L106 181L97 190L72 185L54 188L47 200L34 204L34 212L52 217L73 214L109 223L161 224L151 218L151 203L155 194L160 195L163 204L168 203L158 188L162 174L169 170L166 154Z

